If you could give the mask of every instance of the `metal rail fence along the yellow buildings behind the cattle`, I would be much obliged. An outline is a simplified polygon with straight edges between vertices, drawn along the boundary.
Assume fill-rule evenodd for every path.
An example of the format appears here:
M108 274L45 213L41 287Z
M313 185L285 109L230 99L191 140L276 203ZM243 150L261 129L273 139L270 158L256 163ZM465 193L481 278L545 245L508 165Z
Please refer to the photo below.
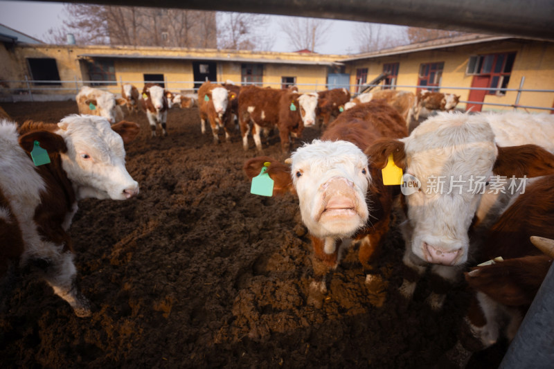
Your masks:
M74 100L75 95L78 93L81 87L91 86L111 93L119 94L121 92L121 85L124 83L135 84L137 87L142 86L147 82L161 83L165 85L168 91L181 91L184 93L196 93L195 85L202 84L204 81L144 81L144 80L119 80L119 81L93 81L93 80L29 80L27 76L25 80L4 80L2 81L4 86L0 86L0 101L1 102L19 102L19 101L53 101L53 100ZM216 83L222 83L225 81L213 81ZM544 111L554 111L554 107L545 107L537 105L520 105L519 101L524 93L554 93L554 89L524 89L525 77L521 78L519 87L517 89L502 89L502 88L490 88L490 87L429 87L418 85L400 85L400 84L347 84L343 87L352 91L368 91L375 87L386 88L401 88L401 89L441 89L441 90L464 90L464 91L494 91L497 95L503 95L508 91L516 91L516 97L513 103L495 103L495 102L479 102L460 100L463 104L475 104L475 105L488 105L492 107L512 107L514 109L537 109ZM18 86L18 87L6 87L6 85ZM250 84L263 84L264 86L280 88L282 82L242 82L236 83L239 86ZM314 92L328 89L330 87L327 83L296 83L300 92ZM356 93L352 93L355 96Z

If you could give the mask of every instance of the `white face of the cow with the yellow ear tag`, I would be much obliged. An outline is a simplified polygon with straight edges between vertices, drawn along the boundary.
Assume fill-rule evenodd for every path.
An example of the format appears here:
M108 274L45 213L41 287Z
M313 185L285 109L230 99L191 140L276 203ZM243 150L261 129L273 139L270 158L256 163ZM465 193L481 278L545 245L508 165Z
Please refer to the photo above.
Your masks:
M406 246L427 262L463 264L481 199L479 179L488 181L498 154L492 129L485 119L442 113L402 141L406 173L421 181L419 192L406 195Z

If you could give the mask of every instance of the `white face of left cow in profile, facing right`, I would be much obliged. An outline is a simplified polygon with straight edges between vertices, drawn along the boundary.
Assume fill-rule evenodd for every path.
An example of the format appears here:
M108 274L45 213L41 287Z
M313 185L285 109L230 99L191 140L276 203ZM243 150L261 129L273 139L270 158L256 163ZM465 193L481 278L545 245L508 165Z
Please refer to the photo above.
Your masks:
M123 139L104 118L72 115L57 125L67 146L62 165L78 199L124 200L139 193L125 169Z

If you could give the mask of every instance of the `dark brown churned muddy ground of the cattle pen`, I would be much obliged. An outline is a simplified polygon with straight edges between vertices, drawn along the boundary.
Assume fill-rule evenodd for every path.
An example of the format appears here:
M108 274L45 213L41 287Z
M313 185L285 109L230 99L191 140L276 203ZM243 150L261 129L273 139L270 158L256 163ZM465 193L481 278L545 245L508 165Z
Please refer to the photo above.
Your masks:
M57 122L75 102L3 103L18 122ZM141 192L80 202L71 226L78 282L93 303L78 318L41 280L20 280L0 312L0 365L22 368L428 368L456 343L466 307L453 287L442 312L425 280L407 309L402 241L388 235L364 284L351 249L322 307L307 303L311 246L292 195L250 195L238 133L214 145L196 108L172 109L169 136L126 147ZM305 129L303 140L319 136ZM298 142L295 144L298 146ZM265 153L283 159L278 138ZM495 368L506 344L474 357Z

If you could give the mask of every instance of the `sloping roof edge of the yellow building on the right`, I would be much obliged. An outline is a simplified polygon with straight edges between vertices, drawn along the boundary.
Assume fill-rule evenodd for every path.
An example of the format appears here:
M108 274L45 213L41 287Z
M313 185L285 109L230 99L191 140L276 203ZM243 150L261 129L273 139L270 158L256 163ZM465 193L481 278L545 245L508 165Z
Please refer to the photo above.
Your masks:
M514 37L508 36L491 36L491 35L479 35L476 33L469 33L455 37L444 37L440 39L431 39L425 42L418 42L417 44L409 44L404 46L397 46L395 48L386 48L379 51L371 51L370 53L361 53L352 55L342 59L341 62L354 62L356 60L373 59L375 57L384 57L392 55L401 55L407 53L415 53L418 51L436 50L439 48L449 48L454 46L464 46L471 44L480 44L482 42L493 42L504 39L512 39Z

